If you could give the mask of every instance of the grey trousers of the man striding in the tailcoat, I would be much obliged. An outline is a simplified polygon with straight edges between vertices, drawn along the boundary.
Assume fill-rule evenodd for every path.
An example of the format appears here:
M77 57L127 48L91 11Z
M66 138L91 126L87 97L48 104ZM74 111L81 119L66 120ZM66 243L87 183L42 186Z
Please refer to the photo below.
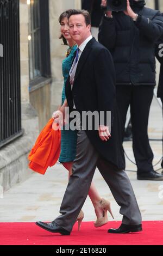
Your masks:
M89 192L96 167L108 184L117 204L121 206L122 223L141 224L139 206L126 172L102 159L85 131L78 132L77 155L72 167L73 174L61 203L61 215L54 220L55 223L68 231L72 230Z

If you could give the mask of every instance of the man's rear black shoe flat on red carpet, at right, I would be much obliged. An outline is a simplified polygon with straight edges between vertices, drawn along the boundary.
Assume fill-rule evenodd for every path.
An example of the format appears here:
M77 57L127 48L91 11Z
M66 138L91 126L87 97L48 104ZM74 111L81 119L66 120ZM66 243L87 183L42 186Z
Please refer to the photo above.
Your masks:
M125 234L125 233L140 232L140 231L142 231L141 224L140 225L121 224L120 228L117 228L117 229L110 228L110 229L108 229L108 233L112 233L112 234Z

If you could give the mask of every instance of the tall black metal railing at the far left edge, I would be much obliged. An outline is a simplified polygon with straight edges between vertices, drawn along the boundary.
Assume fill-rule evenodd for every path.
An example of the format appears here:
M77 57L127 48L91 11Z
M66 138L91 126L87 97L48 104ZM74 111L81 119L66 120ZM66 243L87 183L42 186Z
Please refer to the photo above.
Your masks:
M0 44L0 147L2 147L22 134L18 0L0 0Z

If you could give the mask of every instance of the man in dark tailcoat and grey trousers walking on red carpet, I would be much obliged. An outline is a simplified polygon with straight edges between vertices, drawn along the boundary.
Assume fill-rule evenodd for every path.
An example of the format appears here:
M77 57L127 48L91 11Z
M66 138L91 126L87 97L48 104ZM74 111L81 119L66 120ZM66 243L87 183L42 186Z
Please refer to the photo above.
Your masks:
M51 223L37 222L41 228L70 235L87 197L96 167L108 184L123 215L120 228L109 233L141 231L139 206L126 172L120 141L120 124L115 100L115 70L110 52L92 38L90 15L85 10L72 10L68 20L70 34L78 44L76 57L66 84L66 99L71 109L80 114L104 112L98 130L79 129L77 154L72 175L62 200L60 216ZM111 111L111 126L106 113ZM80 115L81 116L81 115ZM80 120L82 121L82 120ZM78 123L78 121L77 121ZM81 124L83 127L83 124ZM110 131L111 128L111 131ZM111 137L110 137L111 136Z

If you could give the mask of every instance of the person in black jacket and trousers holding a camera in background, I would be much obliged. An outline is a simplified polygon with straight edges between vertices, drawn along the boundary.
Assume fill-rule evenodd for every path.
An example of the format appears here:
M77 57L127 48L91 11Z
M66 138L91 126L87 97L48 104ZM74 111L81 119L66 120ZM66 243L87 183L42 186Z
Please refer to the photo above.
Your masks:
M130 105L137 179L163 180L163 175L153 170L147 132L155 86L155 41L163 33L163 17L159 11L145 8L145 4L144 0L127 0L126 11L106 11L98 40L114 59L122 142ZM102 5L106 6L105 0Z

